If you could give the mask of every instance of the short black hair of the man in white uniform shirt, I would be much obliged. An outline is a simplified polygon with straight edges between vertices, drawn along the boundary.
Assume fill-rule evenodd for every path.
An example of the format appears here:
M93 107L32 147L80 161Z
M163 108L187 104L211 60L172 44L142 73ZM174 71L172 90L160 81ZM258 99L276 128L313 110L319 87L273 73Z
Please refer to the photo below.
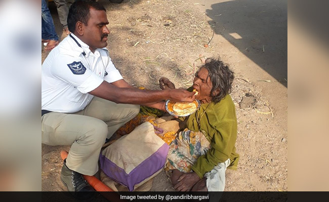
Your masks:
M90 8L106 12L106 9L97 2L83 0L74 2L70 7L67 16L67 27L70 32L73 33L75 31L75 25L78 21L88 25L90 19Z

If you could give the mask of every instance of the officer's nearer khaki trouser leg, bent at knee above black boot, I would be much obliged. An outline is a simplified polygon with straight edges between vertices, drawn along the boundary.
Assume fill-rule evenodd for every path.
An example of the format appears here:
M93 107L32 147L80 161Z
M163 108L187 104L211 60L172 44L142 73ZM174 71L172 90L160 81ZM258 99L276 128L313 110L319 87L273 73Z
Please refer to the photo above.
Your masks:
M71 145L66 166L84 175L98 171L99 154L107 132L107 125L93 117L56 112L42 117L42 143Z

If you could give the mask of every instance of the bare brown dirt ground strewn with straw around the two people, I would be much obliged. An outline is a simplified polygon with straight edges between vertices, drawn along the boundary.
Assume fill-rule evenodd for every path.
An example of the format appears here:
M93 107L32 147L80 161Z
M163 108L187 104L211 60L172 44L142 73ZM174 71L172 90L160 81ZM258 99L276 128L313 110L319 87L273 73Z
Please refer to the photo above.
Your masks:
M248 36L240 34L249 45L232 42L228 36L239 38L235 32L246 33L253 27L244 25L240 26L240 32L234 31L233 20L224 22L220 18L230 9L239 13L239 9L249 6L253 10L241 16L246 22L268 19L272 24L263 21L254 26L265 26L262 29L268 31L277 23L284 29L284 22L275 21L277 16L260 16L275 9L277 14L281 7L271 6L270 1L259 1L257 5L232 1L232 5L223 5L226 7L221 13L215 13L215 7L202 12L202 6L207 6L202 2L206 1L126 0L111 4L100 0L110 22L107 46L110 57L131 85L159 89L158 79L162 76L170 78L178 88L189 87L196 71L193 64L201 64L199 55L220 56L235 72L231 96L236 106L236 149L240 155L238 170L226 172L225 190L287 191L286 40L275 41L277 32L260 35L251 32ZM52 3L49 6L56 31L63 38L56 7ZM217 9L223 8L218 6ZM225 31L230 28L233 31ZM276 46L271 45L272 41ZM42 60L46 57L43 51ZM60 181L62 149L68 150L69 146L42 145L43 191L66 190ZM151 190L174 189L165 172L161 172L154 178Z

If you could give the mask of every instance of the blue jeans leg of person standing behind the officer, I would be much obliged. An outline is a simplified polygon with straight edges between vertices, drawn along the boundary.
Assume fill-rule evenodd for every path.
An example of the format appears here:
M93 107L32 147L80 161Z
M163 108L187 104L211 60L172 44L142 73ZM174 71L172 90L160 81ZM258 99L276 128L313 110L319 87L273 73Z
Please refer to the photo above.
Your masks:
M42 24L42 32L41 36L42 39L50 39L58 41L58 35L55 31L55 25L52 18L52 15L50 14L50 11L48 9L46 0L42 0L41 3L41 24Z

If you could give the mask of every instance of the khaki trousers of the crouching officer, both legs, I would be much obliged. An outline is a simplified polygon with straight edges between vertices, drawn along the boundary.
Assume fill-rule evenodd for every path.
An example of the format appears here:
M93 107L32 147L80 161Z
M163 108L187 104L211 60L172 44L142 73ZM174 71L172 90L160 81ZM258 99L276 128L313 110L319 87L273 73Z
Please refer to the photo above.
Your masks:
M139 109L138 105L116 104L94 97L79 112L45 114L42 117L42 143L71 145L66 166L84 175L94 175L106 138L134 118Z

